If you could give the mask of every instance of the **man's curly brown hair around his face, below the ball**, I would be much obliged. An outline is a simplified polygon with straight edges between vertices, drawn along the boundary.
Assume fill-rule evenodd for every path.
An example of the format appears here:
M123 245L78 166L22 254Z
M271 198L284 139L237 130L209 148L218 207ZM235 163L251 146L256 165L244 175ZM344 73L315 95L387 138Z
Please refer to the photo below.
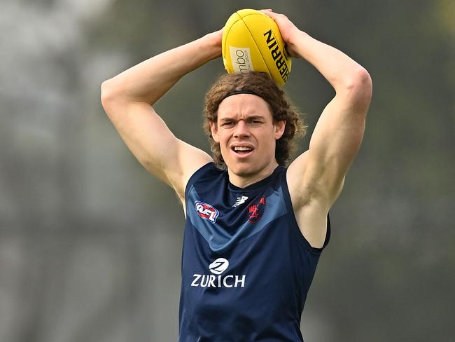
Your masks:
M211 135L210 123L218 119L218 106L225 97L235 92L248 92L262 97L269 104L274 123L285 121L285 129L281 138L276 140L275 158L281 166L286 166L296 144L295 136L304 136L307 126L304 125L300 114L287 99L286 94L273 79L265 72L250 72L248 74L223 74L209 88L204 101L204 132L209 136L211 151L218 165L224 165L220 144Z

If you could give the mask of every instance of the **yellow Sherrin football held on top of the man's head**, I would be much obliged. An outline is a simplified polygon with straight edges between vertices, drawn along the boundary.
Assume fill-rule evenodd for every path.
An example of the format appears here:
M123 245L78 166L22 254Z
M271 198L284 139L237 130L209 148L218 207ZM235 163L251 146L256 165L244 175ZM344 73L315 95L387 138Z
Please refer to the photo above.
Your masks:
M283 86L290 73L290 55L278 25L251 9L235 12L226 22L222 40L223 63L229 74L265 71Z

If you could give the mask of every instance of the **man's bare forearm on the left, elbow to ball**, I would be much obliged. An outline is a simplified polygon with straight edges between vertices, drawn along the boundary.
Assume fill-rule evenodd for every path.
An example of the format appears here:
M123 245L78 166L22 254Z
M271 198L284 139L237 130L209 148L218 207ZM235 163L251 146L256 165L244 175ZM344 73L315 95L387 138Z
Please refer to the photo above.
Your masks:
M221 55L218 32L156 55L103 83L107 97L155 103L188 72ZM107 94L106 94L107 93Z

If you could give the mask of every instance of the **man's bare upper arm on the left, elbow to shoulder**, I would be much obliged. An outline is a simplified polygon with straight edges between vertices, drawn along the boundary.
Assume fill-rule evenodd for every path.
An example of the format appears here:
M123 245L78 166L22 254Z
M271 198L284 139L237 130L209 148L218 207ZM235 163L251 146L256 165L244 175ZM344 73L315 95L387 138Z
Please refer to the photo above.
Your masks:
M128 102L106 113L139 163L183 196L186 182L211 157L180 139L146 102Z

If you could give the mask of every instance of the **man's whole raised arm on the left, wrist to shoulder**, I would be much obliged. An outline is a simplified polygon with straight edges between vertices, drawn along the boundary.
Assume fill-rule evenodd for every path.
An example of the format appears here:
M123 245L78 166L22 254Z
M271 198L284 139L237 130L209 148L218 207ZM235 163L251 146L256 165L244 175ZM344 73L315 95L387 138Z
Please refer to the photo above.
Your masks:
M179 79L221 55L222 31L207 34L123 71L102 84L102 104L139 162L172 186L181 200L186 183L211 157L177 139L152 105Z

